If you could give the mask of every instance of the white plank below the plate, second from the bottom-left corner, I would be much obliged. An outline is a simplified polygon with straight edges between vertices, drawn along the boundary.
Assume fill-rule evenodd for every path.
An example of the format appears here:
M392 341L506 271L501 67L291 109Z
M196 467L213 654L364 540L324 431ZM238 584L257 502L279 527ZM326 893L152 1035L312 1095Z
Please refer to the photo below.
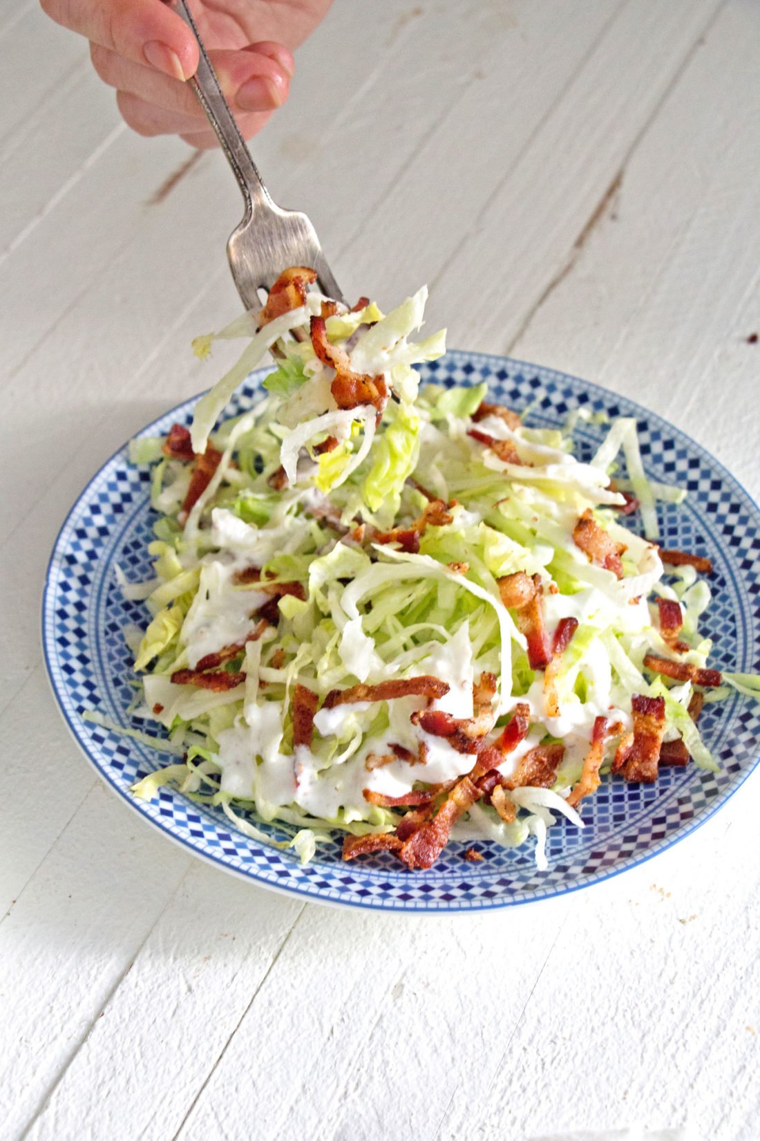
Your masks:
M30 1141L82 1122L93 1138L173 1136L303 906L193 861L103 1013L77 1012L87 1037Z

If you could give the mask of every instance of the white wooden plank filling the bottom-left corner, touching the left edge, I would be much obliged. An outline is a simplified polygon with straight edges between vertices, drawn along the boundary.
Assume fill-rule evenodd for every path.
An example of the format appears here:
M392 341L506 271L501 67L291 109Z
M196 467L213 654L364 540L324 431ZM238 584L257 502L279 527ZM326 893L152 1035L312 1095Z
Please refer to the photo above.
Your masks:
M88 806L0 925L8 1138L76 1053L190 865L137 819L123 827L121 804L99 782Z

